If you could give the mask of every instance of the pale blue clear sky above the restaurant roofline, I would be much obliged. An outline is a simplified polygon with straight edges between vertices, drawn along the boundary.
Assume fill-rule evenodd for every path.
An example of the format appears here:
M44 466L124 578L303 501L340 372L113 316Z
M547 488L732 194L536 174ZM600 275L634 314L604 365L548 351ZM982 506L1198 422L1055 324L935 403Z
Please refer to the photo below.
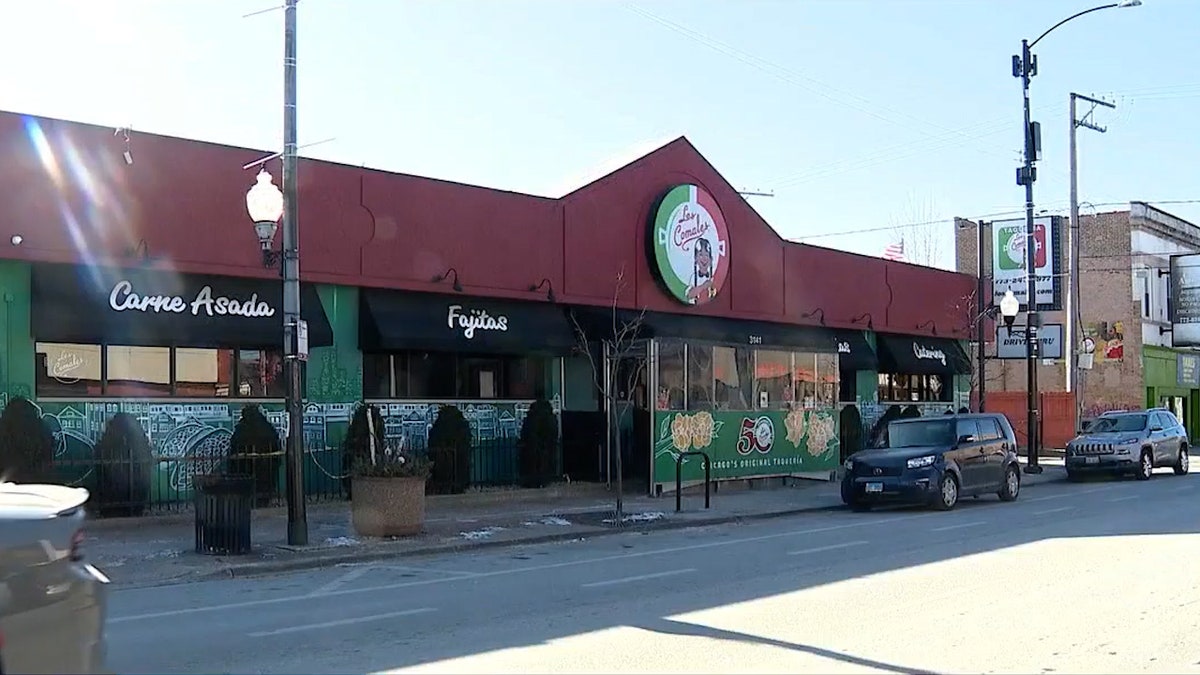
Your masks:
M892 226L1022 207L1012 54L1094 1L301 0L300 142L559 196L684 135L775 192L751 201L784 237L880 255ZM242 18L278 2L12 2L0 108L278 148L283 13ZM1039 209L1066 209L1072 90L1120 106L1081 131L1082 201L1200 199L1198 34L1200 1L1145 0L1038 46ZM1162 208L1200 222L1200 203ZM952 265L950 226L918 229Z

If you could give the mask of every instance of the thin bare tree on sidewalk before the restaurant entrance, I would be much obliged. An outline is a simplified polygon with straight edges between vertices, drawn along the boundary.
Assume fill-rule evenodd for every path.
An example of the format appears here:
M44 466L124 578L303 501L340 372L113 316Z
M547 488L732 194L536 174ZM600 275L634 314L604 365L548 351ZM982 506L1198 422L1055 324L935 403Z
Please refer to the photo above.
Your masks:
M596 330L599 333L596 339L588 340L587 331L580 325L575 313L571 313L571 323L575 325L575 335L578 339L578 351L587 356L588 363L592 366L592 382L605 408L606 430L611 434L616 443L617 504L613 518L618 527L625 522L624 462L622 461L619 430L620 422L628 411L628 407L619 405L618 398L620 392L631 392L638 384L642 374L646 371L648 360L648 358L635 357L638 335L642 323L646 319L646 310L643 309L634 316L623 316L618 304L624 288L625 268L622 267L620 271L617 273L617 280L613 285L612 306L610 307L612 318L611 330L606 328ZM592 348L593 344L600 346L599 353ZM629 364L632 364L632 368L628 368ZM608 384L607 387L605 387L606 383ZM646 392L648 401L653 401L652 395L652 392Z

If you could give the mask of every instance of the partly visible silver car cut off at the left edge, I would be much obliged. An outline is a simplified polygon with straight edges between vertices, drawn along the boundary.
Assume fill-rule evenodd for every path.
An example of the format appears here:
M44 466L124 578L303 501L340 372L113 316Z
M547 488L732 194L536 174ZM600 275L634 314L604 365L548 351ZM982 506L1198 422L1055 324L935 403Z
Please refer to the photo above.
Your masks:
M103 671L109 581L83 561L88 496L0 483L0 674Z

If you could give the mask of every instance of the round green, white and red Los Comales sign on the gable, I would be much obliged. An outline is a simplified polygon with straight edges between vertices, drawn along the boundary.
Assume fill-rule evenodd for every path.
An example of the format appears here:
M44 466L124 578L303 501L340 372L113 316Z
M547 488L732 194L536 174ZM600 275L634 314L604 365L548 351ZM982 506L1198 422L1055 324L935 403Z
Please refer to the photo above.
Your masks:
M662 197L650 232L662 283L680 303L702 305L730 274L730 229L713 196L676 185Z

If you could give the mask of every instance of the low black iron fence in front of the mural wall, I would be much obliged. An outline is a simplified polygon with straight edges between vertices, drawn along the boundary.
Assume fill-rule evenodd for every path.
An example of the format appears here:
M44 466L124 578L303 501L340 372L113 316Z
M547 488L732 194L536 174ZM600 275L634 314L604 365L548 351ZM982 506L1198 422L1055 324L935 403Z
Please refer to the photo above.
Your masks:
M424 444L407 444L407 452L428 456L434 472L427 494L455 494L472 488L496 488L528 483L522 474L516 438L476 440L469 453L431 450ZM552 462L553 476L534 483L554 480L562 472L562 453ZM341 501L349 496L350 461L341 448L310 449L305 453L305 496L310 502ZM138 516L191 510L197 476L234 473L253 477L256 508L283 506L284 456L282 452L252 452L240 455L188 454L120 459L59 458L55 479L86 488L89 502L100 516Z

